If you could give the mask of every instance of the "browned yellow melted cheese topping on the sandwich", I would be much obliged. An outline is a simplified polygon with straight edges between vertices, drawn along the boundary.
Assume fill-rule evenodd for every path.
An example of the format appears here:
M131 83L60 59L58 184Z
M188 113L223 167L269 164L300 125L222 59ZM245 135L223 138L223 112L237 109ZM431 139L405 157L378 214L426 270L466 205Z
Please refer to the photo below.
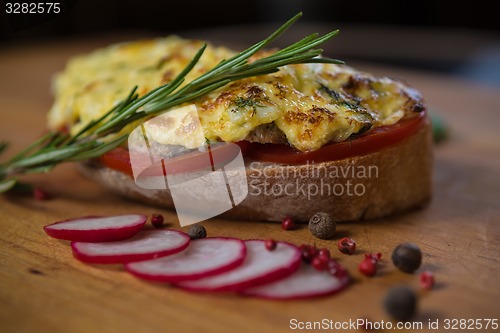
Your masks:
M143 95L170 82L201 46L200 41L171 36L112 45L71 59L54 80L49 127L75 133L119 103L132 87L137 85ZM209 45L186 82L233 54ZM424 108L419 93L400 82L333 64L285 66L274 74L231 83L194 103L211 141L244 140L258 126L274 123L301 151L394 124ZM161 144L179 143L160 132L153 136Z

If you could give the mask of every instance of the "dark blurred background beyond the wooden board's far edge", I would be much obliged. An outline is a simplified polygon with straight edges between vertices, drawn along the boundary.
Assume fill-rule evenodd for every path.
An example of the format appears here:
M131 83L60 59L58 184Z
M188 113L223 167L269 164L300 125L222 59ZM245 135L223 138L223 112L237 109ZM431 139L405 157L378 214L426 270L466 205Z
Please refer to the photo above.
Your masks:
M335 55L342 59L454 73L500 85L500 18L485 0L465 5L443 0L59 0L62 12L51 16L6 15L6 2L16 1L0 0L0 48L128 32L191 31L198 36L211 29L219 35L233 33L237 40L235 26L279 24L302 11L300 24L341 29ZM359 27L365 34L357 33ZM417 36L415 31L423 33Z

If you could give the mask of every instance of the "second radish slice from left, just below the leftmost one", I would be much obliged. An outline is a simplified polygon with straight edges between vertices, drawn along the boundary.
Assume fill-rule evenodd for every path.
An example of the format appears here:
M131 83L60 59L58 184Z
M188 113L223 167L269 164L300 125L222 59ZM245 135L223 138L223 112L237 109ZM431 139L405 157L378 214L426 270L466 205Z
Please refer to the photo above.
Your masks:
M117 242L71 242L75 258L95 264L118 264L149 260L184 250L188 234L171 229L142 230L135 236Z

